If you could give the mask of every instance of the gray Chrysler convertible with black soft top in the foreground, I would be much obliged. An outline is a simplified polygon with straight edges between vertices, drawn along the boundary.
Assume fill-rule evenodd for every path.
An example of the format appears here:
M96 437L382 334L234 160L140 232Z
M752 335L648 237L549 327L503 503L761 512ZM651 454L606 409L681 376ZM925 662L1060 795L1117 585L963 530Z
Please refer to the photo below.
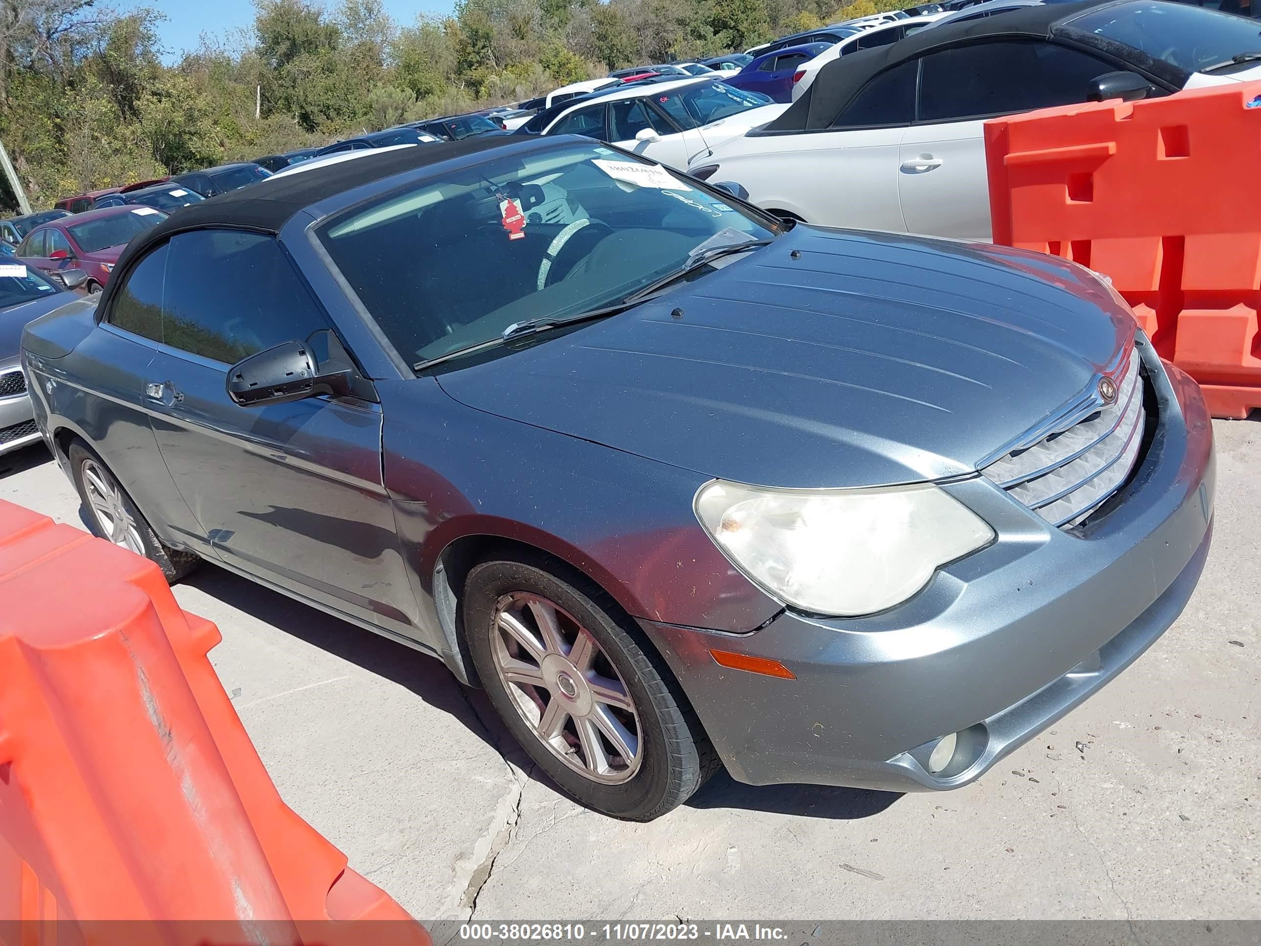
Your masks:
M23 348L100 536L441 658L617 817L720 766L966 785L1169 627L1212 534L1199 390L1102 277L586 139L182 209Z

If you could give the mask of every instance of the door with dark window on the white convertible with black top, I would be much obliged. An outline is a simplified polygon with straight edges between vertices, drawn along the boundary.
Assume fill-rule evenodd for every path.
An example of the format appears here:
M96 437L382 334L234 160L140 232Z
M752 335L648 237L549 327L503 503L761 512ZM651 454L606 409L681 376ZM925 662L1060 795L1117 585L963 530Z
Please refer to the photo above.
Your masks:
M990 240L986 119L1087 101L1120 66L1045 40L997 39L921 61L915 124L902 140L898 192L913 233Z

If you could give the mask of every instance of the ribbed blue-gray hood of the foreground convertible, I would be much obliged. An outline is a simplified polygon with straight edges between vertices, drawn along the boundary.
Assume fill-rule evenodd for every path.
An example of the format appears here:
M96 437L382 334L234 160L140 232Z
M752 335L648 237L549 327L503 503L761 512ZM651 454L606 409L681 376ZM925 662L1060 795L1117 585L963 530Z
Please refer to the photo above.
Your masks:
M1087 271L1040 254L798 225L730 259L439 383L470 407L706 476L871 486L975 470L1135 330Z

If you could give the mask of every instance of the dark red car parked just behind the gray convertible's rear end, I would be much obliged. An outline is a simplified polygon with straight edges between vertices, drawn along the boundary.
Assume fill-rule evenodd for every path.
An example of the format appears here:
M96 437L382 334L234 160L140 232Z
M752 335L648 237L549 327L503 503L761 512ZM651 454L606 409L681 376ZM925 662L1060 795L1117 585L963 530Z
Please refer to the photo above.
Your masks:
M83 270L84 289L100 293L127 241L164 219L166 214L159 209L131 204L76 213L30 231L14 255L49 275Z

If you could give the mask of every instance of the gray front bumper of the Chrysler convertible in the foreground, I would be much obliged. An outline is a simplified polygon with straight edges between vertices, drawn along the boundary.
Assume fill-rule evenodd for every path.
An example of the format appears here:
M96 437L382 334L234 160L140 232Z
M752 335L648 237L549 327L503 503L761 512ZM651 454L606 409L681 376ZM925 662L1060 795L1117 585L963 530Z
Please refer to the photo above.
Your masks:
M1120 674L1174 622L1208 555L1213 431L1194 381L1144 353L1153 440L1084 536L989 481L947 488L997 540L868 618L789 610L752 634L641 622L731 776L752 785L957 788ZM709 650L768 657L796 680L729 670ZM955 762L928 771L960 733Z

